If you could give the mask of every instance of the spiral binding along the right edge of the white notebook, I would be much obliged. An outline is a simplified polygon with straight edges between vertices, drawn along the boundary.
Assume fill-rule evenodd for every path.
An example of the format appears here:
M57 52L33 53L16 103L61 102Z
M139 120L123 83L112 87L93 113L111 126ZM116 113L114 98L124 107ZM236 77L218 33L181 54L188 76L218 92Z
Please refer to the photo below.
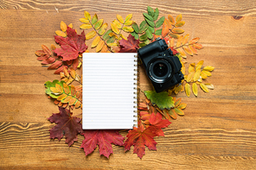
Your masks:
M133 97L134 98L134 101L133 101L133 104L134 104L134 106L133 106L133 108L134 108L134 110L133 110L133 112L134 113L136 113L136 115L133 115L133 117L134 117L134 119L133 119L133 127L138 127L138 93L137 93L137 85L138 85L138 55L134 55L134 58L136 58L135 60L134 60L134 83L133 83L133 85L136 85L136 87L134 87L133 89L135 90L134 92L133 92L133 94L135 94L136 96L135 97Z

